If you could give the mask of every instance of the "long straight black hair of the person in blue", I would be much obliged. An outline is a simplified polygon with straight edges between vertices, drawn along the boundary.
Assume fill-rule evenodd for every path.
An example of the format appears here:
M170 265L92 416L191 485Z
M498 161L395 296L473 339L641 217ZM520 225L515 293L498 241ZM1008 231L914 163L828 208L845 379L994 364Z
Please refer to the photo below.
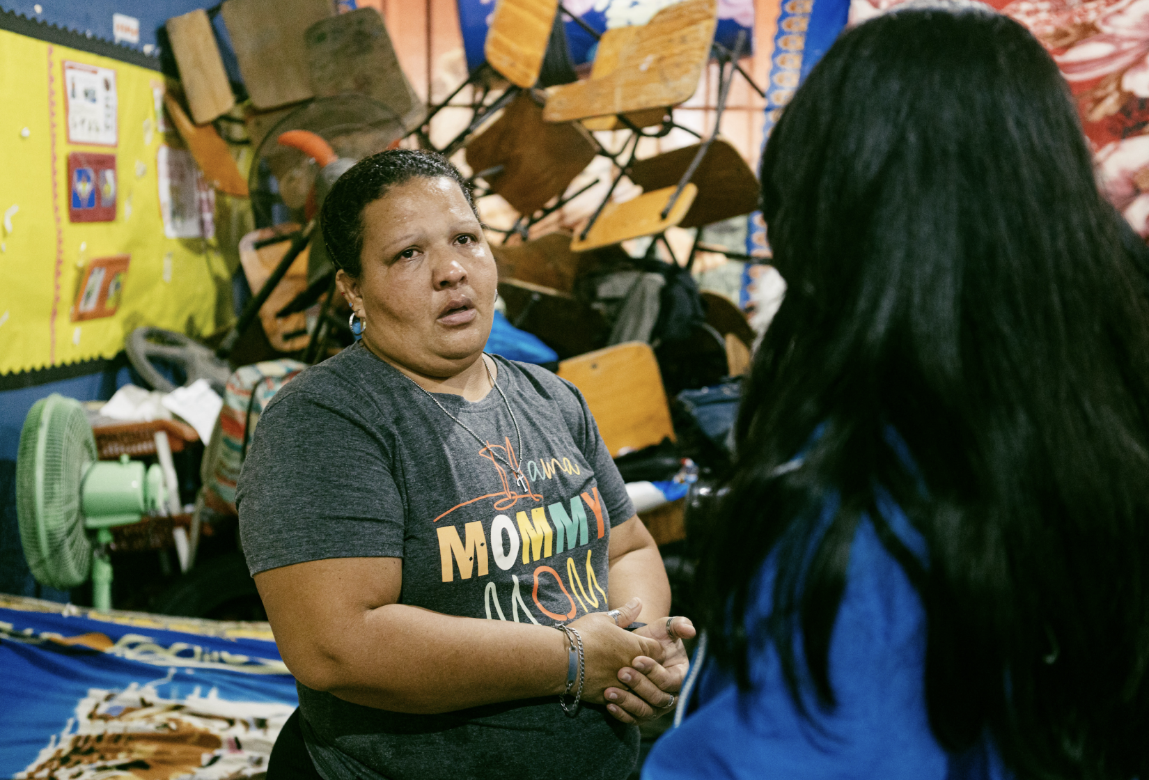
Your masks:
M921 596L943 747L988 733L1019 777L1149 777L1149 306L1054 62L989 11L866 22L785 109L762 198L787 293L703 548L719 663L748 686L772 642L795 702L833 706L866 517ZM771 551L771 615L731 630Z

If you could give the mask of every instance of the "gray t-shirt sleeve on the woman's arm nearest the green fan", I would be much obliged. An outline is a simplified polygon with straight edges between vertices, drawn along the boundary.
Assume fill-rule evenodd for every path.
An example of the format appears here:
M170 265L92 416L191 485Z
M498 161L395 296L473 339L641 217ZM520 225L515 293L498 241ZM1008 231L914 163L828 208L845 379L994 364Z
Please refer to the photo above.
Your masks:
M252 574L322 558L403 556L404 504L383 442L336 407L282 392L260 417L236 499Z

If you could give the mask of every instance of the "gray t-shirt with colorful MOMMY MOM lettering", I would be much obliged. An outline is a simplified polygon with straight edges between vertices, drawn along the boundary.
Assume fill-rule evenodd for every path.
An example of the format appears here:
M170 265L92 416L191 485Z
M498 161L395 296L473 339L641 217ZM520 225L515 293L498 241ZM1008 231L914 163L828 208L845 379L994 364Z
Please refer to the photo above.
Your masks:
M303 371L260 418L237 505L253 574L304 561L403 558L400 602L550 626L609 609L610 527L634 515L586 401L533 365L435 399L356 345ZM522 451L515 420L522 431ZM520 488L507 468L523 466ZM407 715L299 685L308 750L344 778L624 778L639 735L555 697Z

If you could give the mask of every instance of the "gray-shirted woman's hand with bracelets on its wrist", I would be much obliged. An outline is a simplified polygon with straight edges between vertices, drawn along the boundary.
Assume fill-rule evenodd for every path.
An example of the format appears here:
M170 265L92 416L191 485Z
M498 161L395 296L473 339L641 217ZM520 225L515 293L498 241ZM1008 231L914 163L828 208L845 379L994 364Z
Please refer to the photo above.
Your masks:
M619 628L633 623L642 611L642 602L631 598L620 610L617 623L606 612L592 612L566 624L583 638L586 664L586 680L583 685L583 701L604 704L603 692L618 687L618 670L630 666L638 656L663 661L662 643L648 636ZM576 679L577 688L578 681ZM573 693L573 690L571 692Z

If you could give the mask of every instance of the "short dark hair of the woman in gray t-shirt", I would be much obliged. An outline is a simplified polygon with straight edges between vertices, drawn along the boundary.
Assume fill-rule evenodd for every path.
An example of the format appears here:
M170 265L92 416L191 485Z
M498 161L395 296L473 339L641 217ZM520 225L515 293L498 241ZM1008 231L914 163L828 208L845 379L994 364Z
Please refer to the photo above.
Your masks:
M347 169L323 201L319 214L323 242L338 268L353 277L362 272L363 209L392 187L416 177L452 179L458 184L471 211L478 216L471 185L441 154L415 149L388 149L372 154Z

